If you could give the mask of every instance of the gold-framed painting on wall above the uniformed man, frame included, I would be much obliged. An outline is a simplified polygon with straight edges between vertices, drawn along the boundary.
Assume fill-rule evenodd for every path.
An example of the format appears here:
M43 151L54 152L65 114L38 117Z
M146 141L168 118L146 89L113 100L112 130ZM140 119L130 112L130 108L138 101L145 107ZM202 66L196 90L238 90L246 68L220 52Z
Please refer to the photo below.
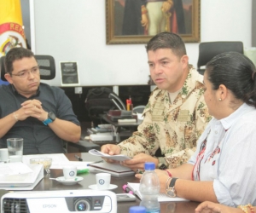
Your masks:
M148 43L159 32L200 42L201 0L106 0L107 44Z

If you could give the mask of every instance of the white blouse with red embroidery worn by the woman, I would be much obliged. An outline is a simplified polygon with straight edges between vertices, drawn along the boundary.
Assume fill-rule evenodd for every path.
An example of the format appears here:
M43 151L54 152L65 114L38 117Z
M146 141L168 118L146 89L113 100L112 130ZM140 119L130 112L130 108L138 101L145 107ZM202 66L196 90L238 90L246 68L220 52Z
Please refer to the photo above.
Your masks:
M227 118L212 118L188 163L195 181L213 181L220 204L256 205L255 107L243 104Z

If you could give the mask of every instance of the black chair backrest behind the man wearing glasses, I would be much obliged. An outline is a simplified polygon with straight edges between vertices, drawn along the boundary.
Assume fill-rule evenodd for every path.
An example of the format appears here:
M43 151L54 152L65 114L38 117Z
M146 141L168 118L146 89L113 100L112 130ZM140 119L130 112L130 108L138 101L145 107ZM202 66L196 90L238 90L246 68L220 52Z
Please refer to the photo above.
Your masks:
M55 59L51 55L35 55L38 65L40 67L40 78L44 80L50 80L55 78ZM1 79L7 81L4 78L5 67L4 67L5 56L0 58L0 72Z

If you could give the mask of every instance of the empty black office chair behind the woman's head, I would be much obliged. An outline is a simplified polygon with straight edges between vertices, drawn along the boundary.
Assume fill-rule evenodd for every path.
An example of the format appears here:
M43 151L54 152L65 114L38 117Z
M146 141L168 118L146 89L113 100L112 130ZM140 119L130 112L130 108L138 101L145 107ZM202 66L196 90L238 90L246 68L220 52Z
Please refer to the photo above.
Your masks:
M215 55L224 52L238 52L243 54L243 43L242 42L207 42L199 44L199 56L197 60L197 71L202 75L205 69L201 66L206 66L207 62L210 61Z

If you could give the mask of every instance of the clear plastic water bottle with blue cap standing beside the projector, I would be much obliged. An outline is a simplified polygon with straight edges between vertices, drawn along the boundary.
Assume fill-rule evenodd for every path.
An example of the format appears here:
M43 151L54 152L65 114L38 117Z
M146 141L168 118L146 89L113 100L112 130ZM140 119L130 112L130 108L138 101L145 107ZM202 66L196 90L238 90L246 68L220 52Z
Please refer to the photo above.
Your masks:
M139 187L142 194L140 205L146 207L147 213L160 213L160 203L158 202L160 182L157 174L154 172L154 163L147 162L144 167L145 172Z

